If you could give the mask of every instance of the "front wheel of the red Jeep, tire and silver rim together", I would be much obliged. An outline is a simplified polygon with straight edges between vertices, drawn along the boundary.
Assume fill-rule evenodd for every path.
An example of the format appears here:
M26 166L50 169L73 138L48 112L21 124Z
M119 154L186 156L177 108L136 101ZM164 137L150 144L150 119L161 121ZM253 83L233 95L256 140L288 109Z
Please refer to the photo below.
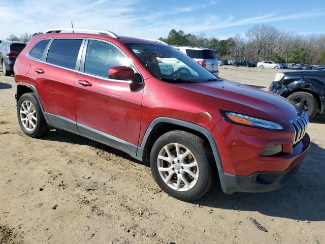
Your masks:
M150 154L151 172L158 186L169 195L190 201L205 195L216 178L207 142L184 131L160 136Z

